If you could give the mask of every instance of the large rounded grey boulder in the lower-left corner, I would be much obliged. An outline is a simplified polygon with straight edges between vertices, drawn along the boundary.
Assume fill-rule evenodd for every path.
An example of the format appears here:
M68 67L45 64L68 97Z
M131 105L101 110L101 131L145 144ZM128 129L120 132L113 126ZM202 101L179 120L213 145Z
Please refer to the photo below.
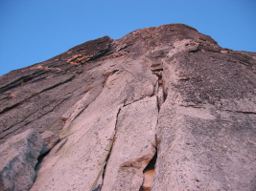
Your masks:
M35 130L9 138L0 147L0 190L29 190L43 140Z

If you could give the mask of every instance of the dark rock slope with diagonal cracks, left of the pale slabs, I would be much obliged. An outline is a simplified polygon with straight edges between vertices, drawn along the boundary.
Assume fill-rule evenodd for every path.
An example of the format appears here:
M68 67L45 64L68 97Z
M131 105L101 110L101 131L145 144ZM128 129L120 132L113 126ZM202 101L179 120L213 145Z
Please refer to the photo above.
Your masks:
M111 41L106 36L92 40L45 62L1 76L0 143L30 128L58 134L63 125L59 117L81 99L88 86L96 84L100 91L94 96L98 96L105 81L104 72L90 71L97 64L87 61L73 65L67 60L82 54L92 55L92 61L109 52Z

